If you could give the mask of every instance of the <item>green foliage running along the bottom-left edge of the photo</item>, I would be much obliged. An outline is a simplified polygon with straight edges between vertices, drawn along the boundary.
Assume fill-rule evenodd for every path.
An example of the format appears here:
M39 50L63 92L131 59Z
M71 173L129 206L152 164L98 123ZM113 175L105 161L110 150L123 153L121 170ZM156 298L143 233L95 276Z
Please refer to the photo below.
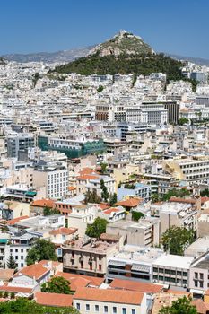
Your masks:
M0 314L79 314L73 307L56 308L37 304L33 300L18 298L16 300L1 302Z

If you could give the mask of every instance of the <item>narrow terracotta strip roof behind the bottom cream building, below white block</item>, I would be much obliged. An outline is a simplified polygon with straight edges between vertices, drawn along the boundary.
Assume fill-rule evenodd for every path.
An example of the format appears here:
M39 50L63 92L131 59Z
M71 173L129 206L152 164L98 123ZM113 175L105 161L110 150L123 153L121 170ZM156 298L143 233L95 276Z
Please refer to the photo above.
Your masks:
M109 286L115 289L126 289L144 293L159 293L163 289L163 285L161 284L140 283L121 279L114 279Z

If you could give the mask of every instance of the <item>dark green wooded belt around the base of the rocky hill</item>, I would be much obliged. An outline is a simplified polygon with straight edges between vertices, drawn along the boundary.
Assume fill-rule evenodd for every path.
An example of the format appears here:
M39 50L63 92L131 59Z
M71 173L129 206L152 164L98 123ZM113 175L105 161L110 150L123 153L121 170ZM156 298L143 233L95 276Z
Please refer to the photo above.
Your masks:
M135 74L149 75L161 72L167 74L168 80L183 79L180 68L183 63L164 56L157 55L119 55L118 57L104 56L99 54L81 57L74 62L57 66L53 72L58 74L77 73L83 75L91 74Z

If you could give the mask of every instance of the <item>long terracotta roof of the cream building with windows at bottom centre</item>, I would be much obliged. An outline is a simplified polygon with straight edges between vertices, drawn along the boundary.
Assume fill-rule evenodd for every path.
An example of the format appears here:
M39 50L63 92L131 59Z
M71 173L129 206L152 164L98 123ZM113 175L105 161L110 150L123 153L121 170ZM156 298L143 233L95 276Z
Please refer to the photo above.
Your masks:
M114 289L113 292L112 289L81 288L74 293L75 300L114 302L135 305L140 305L143 297L144 293L142 292L116 289Z

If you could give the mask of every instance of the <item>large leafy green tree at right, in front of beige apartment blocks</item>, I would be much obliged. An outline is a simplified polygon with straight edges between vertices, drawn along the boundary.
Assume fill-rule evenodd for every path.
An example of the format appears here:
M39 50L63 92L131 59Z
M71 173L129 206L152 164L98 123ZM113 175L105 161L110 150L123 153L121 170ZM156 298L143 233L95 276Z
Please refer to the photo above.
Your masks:
M184 249L195 240L193 230L171 226L162 234L161 243L170 254L183 255Z

